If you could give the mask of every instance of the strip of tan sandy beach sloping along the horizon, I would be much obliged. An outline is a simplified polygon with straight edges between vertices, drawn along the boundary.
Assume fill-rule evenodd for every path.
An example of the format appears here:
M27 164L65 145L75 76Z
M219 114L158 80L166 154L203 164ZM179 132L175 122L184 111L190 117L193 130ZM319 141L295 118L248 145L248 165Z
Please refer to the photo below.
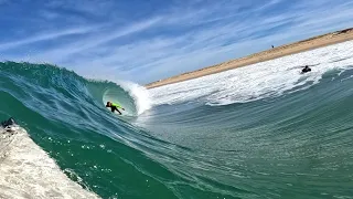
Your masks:
M286 56L289 54L300 53L303 51L309 51L312 49L318 49L318 48L341 43L350 40L353 40L353 29L345 29L342 31L336 31L336 32L310 38L308 40L299 41L296 43L277 46L267 51L263 51L263 52L255 53L255 54L236 59L236 60L231 60L231 61L212 65L208 67L204 67L197 71L183 73L183 74L164 78L158 82L152 82L145 86L147 88L159 87L167 84L173 84L173 83L183 82L192 78L197 78L201 76L220 73L223 71L242 67L242 66L255 64L258 62L264 62L264 61Z

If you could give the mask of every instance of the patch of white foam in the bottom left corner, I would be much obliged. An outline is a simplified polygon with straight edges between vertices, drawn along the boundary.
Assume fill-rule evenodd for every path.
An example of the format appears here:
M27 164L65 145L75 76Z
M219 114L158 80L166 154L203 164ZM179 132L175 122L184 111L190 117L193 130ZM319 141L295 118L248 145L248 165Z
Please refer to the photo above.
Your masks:
M55 161L12 126L0 129L0 198L99 198L69 180Z

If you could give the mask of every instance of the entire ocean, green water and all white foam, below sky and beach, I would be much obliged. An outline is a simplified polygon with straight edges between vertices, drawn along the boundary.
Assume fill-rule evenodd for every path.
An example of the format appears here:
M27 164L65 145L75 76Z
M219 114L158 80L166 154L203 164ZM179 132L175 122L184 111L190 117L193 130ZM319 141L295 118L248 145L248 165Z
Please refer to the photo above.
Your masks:
M0 198L353 198L352 41L149 91L0 70Z

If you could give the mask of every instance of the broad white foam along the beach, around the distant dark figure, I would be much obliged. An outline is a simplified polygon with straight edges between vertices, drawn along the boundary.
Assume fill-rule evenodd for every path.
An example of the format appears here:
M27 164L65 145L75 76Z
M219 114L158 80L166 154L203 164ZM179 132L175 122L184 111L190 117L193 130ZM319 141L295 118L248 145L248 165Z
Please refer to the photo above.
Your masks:
M280 96L320 82L331 70L352 67L353 41L252 64L150 90L152 104L196 101L207 105L246 103ZM318 64L318 65L315 65ZM302 65L315 65L300 74ZM308 85L309 84L309 85Z

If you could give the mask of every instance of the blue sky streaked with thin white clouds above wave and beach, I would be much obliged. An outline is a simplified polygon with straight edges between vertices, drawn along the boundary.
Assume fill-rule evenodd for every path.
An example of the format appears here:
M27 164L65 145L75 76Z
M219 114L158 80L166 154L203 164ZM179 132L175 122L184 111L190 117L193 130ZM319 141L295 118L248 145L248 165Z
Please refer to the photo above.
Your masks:
M0 60L148 83L353 27L351 0L0 0Z

